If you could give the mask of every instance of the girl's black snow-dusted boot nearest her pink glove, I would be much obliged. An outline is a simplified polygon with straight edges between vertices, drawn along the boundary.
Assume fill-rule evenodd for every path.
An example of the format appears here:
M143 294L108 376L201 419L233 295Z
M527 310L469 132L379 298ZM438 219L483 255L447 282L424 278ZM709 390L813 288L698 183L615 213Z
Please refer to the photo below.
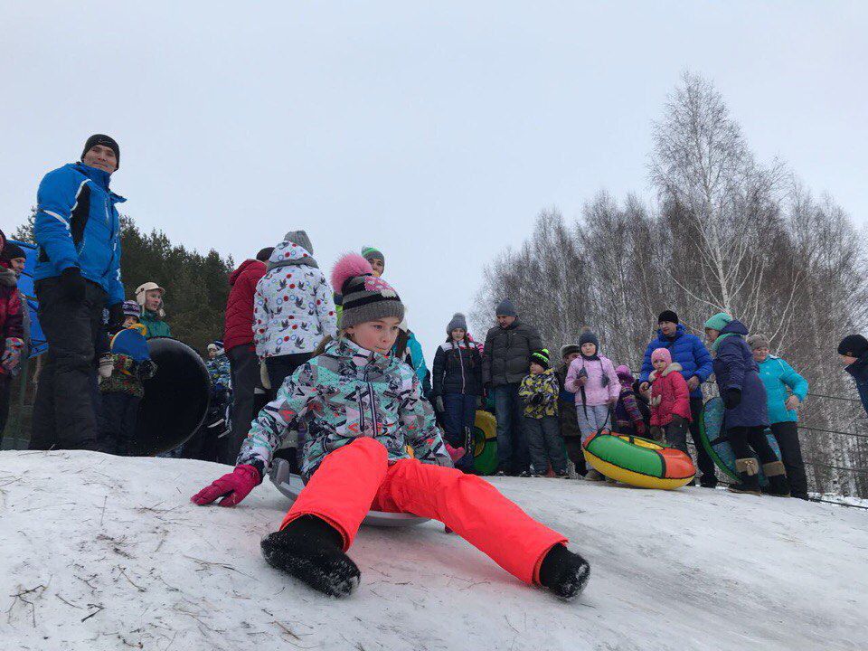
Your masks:
M344 553L341 534L316 515L302 515L262 539L269 564L332 597L348 596L362 578Z

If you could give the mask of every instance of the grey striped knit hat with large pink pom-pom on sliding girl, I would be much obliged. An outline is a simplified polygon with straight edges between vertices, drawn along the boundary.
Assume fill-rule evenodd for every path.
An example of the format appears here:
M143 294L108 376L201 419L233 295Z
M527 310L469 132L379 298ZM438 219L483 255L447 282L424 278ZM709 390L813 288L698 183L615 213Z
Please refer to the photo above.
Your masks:
M365 321L394 316L404 318L404 306L398 292L382 278L373 275L371 263L358 253L347 253L332 269L332 287L344 297L341 328Z

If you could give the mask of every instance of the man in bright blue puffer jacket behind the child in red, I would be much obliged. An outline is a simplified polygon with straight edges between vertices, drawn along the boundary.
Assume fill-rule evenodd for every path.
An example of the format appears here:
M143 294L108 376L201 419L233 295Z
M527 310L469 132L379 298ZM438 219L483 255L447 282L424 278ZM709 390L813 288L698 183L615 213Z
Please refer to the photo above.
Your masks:
M651 365L651 354L657 348L666 348L672 355L672 361L681 364L681 374L687 381L690 389L690 435L693 437L693 445L696 446L697 466L702 473L700 485L707 488L717 486L717 477L714 475L714 462L703 448L702 439L699 438L699 418L703 412L703 389L702 383L708 380L712 374L712 355L703 344L703 340L696 335L691 335L684 329L684 325L678 323L678 315L672 310L664 310L657 317L660 329L657 336L651 340L645 351L645 359L642 362L642 373L639 375L639 389L646 391L648 388L648 375L654 370Z

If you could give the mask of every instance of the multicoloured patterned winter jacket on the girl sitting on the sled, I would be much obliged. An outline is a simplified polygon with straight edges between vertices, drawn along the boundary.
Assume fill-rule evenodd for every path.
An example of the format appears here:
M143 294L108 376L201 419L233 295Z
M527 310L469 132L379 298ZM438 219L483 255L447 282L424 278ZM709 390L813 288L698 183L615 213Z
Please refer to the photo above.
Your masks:
M277 399L253 421L238 464L265 476L274 451L301 426L307 429L306 479L325 455L359 437L380 441L390 461L410 458L410 446L422 463L452 465L434 410L420 398L416 373L393 355L372 353L349 339L329 343L283 383Z

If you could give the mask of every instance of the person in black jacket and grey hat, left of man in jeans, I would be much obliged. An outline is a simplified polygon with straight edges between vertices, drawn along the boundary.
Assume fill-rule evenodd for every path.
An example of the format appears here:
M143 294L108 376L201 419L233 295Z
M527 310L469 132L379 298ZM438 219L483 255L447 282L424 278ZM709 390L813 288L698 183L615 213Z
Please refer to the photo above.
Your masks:
M467 335L467 319L463 314L452 316L446 331L446 343L440 344L434 354L431 396L443 414L449 445L465 449L464 457L455 466L471 470L476 402L482 393L482 354Z

